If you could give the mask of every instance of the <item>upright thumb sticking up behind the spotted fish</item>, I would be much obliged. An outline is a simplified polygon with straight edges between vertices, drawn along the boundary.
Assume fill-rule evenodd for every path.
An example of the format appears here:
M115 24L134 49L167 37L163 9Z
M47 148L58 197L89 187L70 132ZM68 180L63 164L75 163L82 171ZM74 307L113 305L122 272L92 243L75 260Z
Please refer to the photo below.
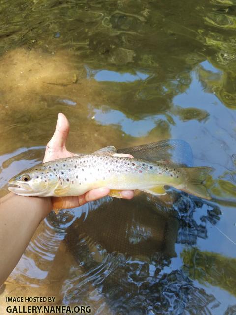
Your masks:
M65 147L65 143L69 134L70 124L64 114L58 114L56 129L52 139L49 141L50 145L55 148Z

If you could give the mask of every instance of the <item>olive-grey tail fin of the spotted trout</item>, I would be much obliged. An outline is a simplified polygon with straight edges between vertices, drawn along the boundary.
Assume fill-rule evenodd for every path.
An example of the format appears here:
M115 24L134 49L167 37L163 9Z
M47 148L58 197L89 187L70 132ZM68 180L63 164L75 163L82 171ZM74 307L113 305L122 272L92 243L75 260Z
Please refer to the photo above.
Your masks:
M189 167L184 168L186 180L185 187L181 190L188 192L194 196L211 199L207 188L203 185L207 176L213 169L211 167Z

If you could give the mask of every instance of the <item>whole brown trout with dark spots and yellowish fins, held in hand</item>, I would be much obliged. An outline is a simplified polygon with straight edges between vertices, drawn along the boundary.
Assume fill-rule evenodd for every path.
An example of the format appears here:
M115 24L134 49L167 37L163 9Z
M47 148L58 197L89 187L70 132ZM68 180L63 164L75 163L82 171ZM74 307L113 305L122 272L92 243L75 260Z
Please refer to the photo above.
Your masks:
M8 189L21 196L76 196L107 187L110 196L121 198L121 190L141 190L165 195L172 186L204 199L211 196L204 186L211 167L173 167L163 163L113 156L114 146L92 154L60 158L29 168L9 180Z

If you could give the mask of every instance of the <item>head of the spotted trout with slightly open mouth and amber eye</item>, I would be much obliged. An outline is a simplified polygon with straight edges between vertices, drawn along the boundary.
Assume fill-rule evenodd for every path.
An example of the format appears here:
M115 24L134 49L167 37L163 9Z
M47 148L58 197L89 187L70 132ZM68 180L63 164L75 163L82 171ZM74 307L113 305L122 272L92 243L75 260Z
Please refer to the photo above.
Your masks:
M50 196L58 186L57 174L50 165L40 164L12 177L8 189L20 196Z

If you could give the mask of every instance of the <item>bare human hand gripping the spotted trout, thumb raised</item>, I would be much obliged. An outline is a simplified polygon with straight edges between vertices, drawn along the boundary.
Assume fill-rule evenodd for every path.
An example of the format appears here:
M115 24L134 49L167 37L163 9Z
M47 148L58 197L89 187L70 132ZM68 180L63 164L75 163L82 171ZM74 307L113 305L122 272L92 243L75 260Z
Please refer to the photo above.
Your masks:
M72 153L66 149L66 140L69 134L69 122L64 114L58 114L58 121L56 130L52 139L46 146L46 151L43 159L43 163L55 160L58 158L74 157L77 154ZM129 154L114 154L113 156L131 157ZM78 206L82 206L86 202L93 201L105 197L109 194L110 189L106 187L92 189L81 196L72 197L51 197L53 210L68 209ZM123 190L121 195L124 199L131 199L134 196L132 190Z

